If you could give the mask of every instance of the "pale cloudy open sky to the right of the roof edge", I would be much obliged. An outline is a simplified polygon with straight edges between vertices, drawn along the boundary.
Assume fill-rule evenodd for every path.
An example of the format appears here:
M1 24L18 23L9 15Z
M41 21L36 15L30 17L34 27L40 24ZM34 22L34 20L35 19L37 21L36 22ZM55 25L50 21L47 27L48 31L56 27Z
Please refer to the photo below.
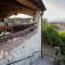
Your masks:
M43 17L49 21L65 18L65 0L42 0L47 11Z

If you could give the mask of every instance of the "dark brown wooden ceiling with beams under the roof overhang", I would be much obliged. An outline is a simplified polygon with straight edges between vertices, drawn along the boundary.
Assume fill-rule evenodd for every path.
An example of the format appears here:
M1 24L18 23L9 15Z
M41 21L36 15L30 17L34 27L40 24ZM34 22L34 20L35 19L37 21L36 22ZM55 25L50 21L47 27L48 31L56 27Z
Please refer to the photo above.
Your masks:
M17 13L35 16L38 10L46 10L41 0L0 0L0 18Z

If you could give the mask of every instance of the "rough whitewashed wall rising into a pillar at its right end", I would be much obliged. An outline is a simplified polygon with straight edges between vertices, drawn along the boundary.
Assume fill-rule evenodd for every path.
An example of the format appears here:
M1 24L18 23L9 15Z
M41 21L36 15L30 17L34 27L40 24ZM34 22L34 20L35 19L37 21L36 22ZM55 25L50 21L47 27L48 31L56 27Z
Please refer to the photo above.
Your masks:
M0 42L0 65L15 62L27 56L27 60L20 61L12 65L30 65L41 56L41 16L37 12L35 22L37 22L37 29L29 32L25 37L17 37L12 40Z

